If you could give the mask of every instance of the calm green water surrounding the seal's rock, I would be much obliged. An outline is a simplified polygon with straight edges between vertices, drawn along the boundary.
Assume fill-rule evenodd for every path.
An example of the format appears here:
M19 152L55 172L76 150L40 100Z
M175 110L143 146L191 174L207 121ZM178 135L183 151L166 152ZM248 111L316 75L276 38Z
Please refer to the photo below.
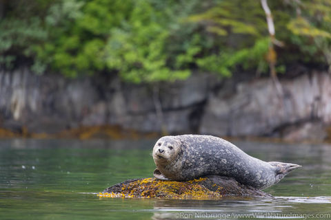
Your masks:
M0 140L0 219L331 219L326 144L235 143L254 157L303 166L265 190L272 199L99 199L112 184L152 176L154 142Z

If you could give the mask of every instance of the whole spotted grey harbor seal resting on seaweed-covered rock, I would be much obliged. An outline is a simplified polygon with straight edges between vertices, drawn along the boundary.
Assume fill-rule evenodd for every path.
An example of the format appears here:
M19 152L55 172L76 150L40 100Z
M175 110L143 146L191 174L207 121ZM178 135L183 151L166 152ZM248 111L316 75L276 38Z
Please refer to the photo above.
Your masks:
M206 175L234 177L241 184L264 189L277 184L297 164L264 162L230 142L211 135L161 137L154 145L154 177L188 181Z

